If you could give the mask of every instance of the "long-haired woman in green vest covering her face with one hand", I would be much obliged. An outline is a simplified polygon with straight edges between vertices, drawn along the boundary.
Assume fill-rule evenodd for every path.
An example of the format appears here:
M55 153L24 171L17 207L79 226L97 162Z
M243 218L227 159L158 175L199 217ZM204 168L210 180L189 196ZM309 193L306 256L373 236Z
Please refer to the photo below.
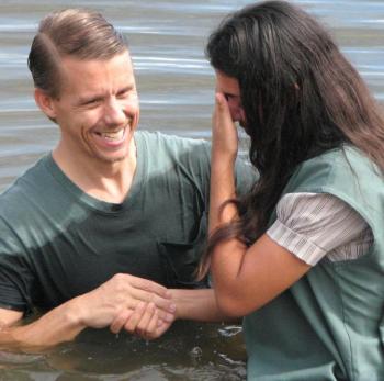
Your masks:
M207 255L251 380L384 380L384 122L328 33L281 1L211 35ZM259 171L236 199L239 122Z

